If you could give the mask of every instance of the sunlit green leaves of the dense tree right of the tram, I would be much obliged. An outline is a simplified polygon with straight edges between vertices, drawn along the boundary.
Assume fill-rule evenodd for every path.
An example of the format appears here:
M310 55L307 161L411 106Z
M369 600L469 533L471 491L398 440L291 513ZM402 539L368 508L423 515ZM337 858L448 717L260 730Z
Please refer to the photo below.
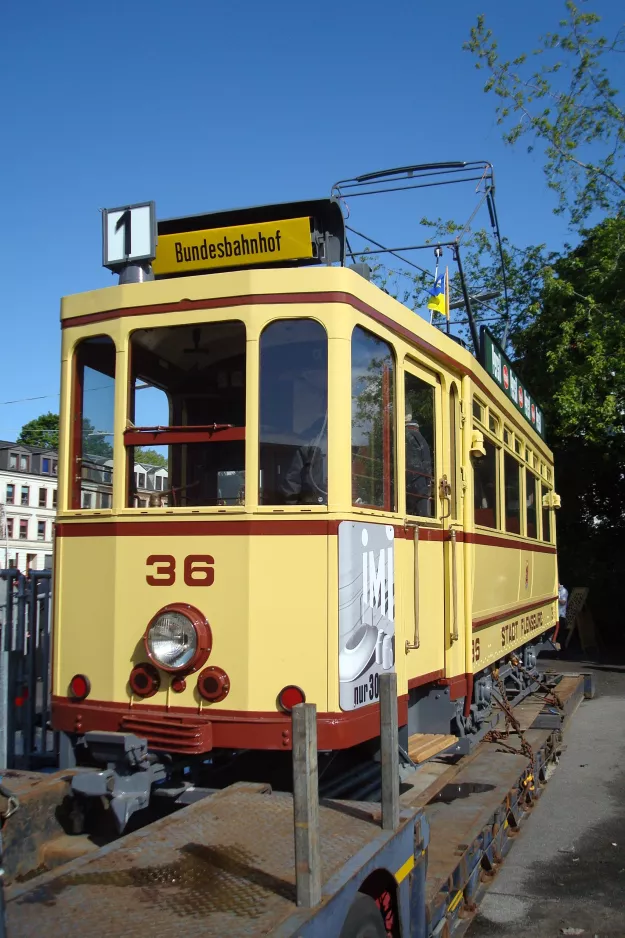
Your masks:
M625 450L625 218L583 232L542 271L541 303L514 334L558 438ZM537 367L538 366L538 367Z

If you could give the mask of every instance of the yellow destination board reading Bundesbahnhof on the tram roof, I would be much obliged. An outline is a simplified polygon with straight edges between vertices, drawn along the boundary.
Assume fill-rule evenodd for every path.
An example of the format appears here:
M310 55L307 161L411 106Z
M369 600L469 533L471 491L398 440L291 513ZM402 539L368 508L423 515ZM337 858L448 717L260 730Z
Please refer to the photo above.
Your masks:
M157 276L166 276L312 256L310 219L288 218L159 235L152 269Z

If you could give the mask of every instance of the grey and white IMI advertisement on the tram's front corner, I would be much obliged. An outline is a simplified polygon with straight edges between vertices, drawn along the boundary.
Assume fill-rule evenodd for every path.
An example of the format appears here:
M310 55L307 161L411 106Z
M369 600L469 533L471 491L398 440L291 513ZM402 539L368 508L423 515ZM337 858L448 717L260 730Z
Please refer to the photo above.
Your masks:
M392 525L339 525L339 700L356 710L379 697L395 667L395 543Z

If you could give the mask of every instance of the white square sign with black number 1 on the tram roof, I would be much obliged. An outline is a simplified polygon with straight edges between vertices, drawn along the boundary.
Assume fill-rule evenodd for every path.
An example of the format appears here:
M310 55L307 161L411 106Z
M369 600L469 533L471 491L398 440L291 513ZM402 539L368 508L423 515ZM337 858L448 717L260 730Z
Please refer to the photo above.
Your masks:
M102 264L115 270L156 256L154 202L105 208L102 212Z

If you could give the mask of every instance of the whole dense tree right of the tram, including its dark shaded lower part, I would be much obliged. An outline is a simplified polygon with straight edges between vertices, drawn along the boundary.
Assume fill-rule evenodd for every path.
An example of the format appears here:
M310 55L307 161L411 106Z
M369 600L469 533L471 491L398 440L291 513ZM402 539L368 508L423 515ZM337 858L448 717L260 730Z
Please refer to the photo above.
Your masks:
M546 268L540 307L514 345L555 454L562 579L590 587L604 637L622 642L625 218L583 232Z

